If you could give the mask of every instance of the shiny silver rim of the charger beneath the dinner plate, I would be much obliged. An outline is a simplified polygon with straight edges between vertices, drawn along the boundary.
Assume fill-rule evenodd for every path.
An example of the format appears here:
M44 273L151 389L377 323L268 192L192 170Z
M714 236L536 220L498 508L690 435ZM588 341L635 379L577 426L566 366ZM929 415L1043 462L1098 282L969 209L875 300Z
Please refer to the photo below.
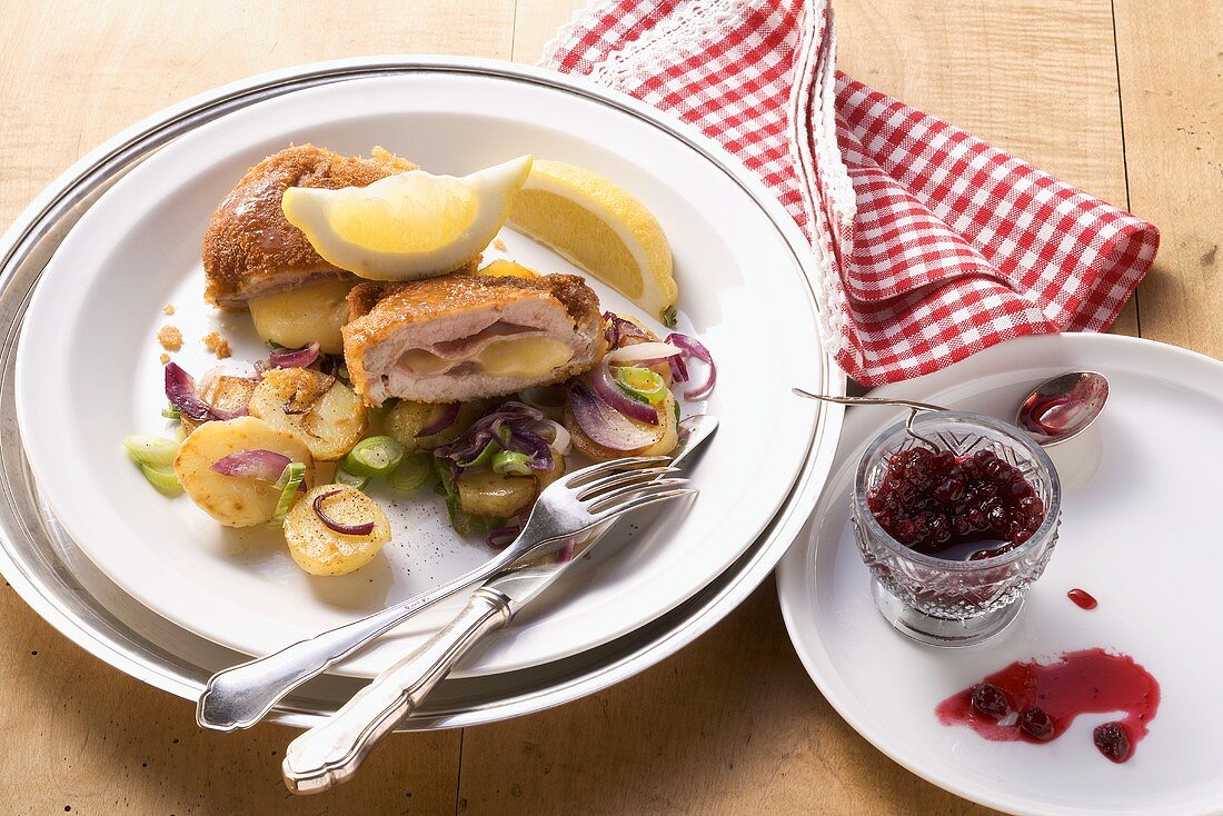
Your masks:
M150 149L149 144L152 144L152 149L155 149L170 138L174 138L177 133L197 126L199 122L197 121L196 124L192 124L192 115L203 117L201 121L209 121L210 119L215 119L225 113L229 113L229 110L240 108L245 104L251 104L252 102L258 102L260 98L285 93L284 89L280 89L280 86L287 83L301 83L300 87L305 88L342 81L356 76L402 73L410 71L443 71L510 76L510 78L521 78L533 83L552 86L563 92L577 93L578 95L592 98L596 102L612 104L613 106L625 110L638 119L645 119L646 121L679 138L681 142L687 143L689 147L697 149L718 165L719 169L722 169L740 187L744 187L745 192L747 192L757 206L764 210L769 220L773 223L773 226L781 234L789 250L795 254L801 269L810 273L817 264L817 259L812 253L812 250L806 243L805 239L802 239L799 228L785 213L784 208L781 208L772 193L769 193L761 182L751 176L736 159L726 154L720 147L707 137L691 131L684 125L671 121L670 117L649 109L643 103L616 92L598 88L580 77L567 77L550 71L506 64L497 60L428 55L373 56L292 66L241 80L238 82L223 86L221 88L197 94L186 102L171 105L168 109L124 130L117 136L111 137L94 150L87 153L68 170L60 174L60 176L38 197L35 197L34 201L22 212L13 225L6 230L4 237L0 239L0 241L2 241L0 246L5 246L7 250L2 261L4 267L0 268L0 273L2 273L2 276L0 276L0 286L6 286L12 278L12 259L23 251L26 256L28 256L31 252L29 245L37 240L46 237L48 228L44 224L45 219L51 215L59 215L62 218L65 210L71 210L72 207L82 204L87 196L81 193L78 188L83 184L95 181L95 179L93 179L94 176L105 177L106 174L113 170L113 168L108 168L108 165L114 165L115 161L122 159L125 155L138 157L147 154ZM290 91L291 89L295 88L290 88ZM22 261L24 259L26 258L23 257ZM804 285L806 286L811 307L817 308L810 274L806 280L804 280ZM20 322L20 313L17 322ZM835 363L832 361L823 345L821 346L817 356L821 361L821 377L826 380L822 384L835 393L843 393L845 379L837 369ZM735 591L719 592L714 599L712 599L707 606L703 606L700 610L695 612L692 617L685 619L681 625L659 637L658 641L654 641L649 646L642 648L638 653L631 656L629 661L631 663L630 670L620 674L615 679L623 679L624 677L629 677L647 666L658 662L667 655L673 653L680 646L695 639L701 632L706 631L717 620L729 613L730 609L737 606L737 603L746 597L746 595L755 588L761 580L763 580L764 574L767 574L767 571L772 569L775 560L780 558L781 551L789 546L793 540L793 533L796 532L796 530L794 530L796 505L801 508L805 504L813 504L815 495L811 495L811 493L813 491L818 492L818 488L823 484L823 480L827 477L827 471L832 461L830 448L835 445L835 438L839 436L840 417L841 411L835 409L821 410L817 412L815 422L812 423L811 439L808 439L807 461L793 481L790 493L780 500L768 527L755 542L752 542L750 548L745 551L744 557L740 559L745 560L746 557L751 555L750 559L746 559L747 564L745 565L744 573L734 576L731 588ZM813 483L816 484L815 488L812 488ZM802 499L806 499L806 502ZM807 506L807 509L810 509L810 506ZM806 514L804 513L802 519L805 520L805 517ZM784 544L779 544L783 538L786 538L786 541ZM7 547L12 544L7 541L7 537L4 543L6 544L6 548L4 553L0 553L0 562L2 562L0 563L0 566L4 568L6 574L12 574L12 577L17 579L12 582L22 597L24 597L37 612L55 625L62 634L72 639L87 651L105 659L108 663L116 666L116 668L120 668L128 674L144 679L153 685L158 685L159 688L164 688L183 697L196 696L198 692L196 686L188 685L187 688L183 688L180 685L180 678L177 675L165 675L164 667L159 667L163 670L150 672L149 669L153 667L149 666L147 659L133 659L133 655L128 651L116 648L115 644L100 640L98 637L98 632L86 625L78 617L70 617L54 602L51 597L44 592L45 587L39 586L38 582L33 580L33 576L26 575L21 565L11 557L7 552ZM762 554L766 555L766 558L762 559ZM724 576L725 573L719 575L718 579L720 580ZM747 584L746 590L744 588L745 579ZM709 614L711 612L713 613L712 615ZM679 637L676 637L678 632L681 632ZM664 642L671 644L673 647L669 650L660 650L660 646ZM659 651L663 653L659 653ZM592 684L589 680L591 678L583 678L583 681L580 681L578 685L586 688L578 690L577 694L570 694L567 699L588 694L589 691L594 691L598 688L603 688L608 683L614 681L614 679L612 679L605 683L599 683L596 679L593 688L591 688ZM563 700L556 700L545 705L555 705L560 701ZM528 705L526 710L537 710L538 707L544 706ZM522 711L511 713L522 713ZM490 717L490 719L497 718L500 717ZM489 718L486 717L484 719ZM482 721L478 714L476 721ZM451 724L462 723L455 722Z

